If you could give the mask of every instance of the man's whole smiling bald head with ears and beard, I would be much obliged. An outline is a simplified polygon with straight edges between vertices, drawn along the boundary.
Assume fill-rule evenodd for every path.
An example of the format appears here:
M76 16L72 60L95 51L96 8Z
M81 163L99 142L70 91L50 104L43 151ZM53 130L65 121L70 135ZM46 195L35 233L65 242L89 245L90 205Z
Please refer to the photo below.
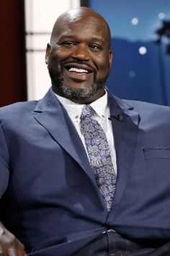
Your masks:
M55 93L77 103L104 95L112 61L109 27L88 8L73 9L53 27L46 63Z

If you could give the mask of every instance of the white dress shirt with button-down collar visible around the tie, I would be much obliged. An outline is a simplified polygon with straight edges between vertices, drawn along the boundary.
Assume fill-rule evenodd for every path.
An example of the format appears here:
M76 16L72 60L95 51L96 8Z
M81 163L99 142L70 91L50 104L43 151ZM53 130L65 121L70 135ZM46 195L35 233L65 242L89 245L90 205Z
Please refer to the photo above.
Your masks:
M104 130L107 141L109 143L109 150L112 158L113 167L115 170L115 173L117 174L117 164L116 164L116 153L115 153L115 142L112 132L112 122L108 119L110 116L109 112L109 106L107 103L107 90L105 90L105 94L99 98L97 101L92 102L89 104L94 111L97 113L94 115L94 118L97 119L99 124L101 125L102 129ZM63 98L57 94L55 94L58 98L58 101L63 105L63 107L66 109L68 116L70 117L74 127L76 128L76 131L79 134L79 137L81 138L81 141L83 142L84 148L86 150L86 144L84 140L84 136L81 134L80 129L80 116L82 108L84 107L84 104L75 103L73 101L68 100L67 98ZM87 150L86 150L87 153ZM87 153L88 156L88 153Z

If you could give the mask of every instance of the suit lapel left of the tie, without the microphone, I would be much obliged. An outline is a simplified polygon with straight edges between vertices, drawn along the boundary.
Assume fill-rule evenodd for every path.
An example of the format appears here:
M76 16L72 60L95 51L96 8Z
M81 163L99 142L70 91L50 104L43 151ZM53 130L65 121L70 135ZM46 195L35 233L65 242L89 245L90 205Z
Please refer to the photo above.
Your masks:
M79 163L93 183L96 184L81 139L73 127L66 110L61 106L52 89L37 104L35 108L35 119Z

